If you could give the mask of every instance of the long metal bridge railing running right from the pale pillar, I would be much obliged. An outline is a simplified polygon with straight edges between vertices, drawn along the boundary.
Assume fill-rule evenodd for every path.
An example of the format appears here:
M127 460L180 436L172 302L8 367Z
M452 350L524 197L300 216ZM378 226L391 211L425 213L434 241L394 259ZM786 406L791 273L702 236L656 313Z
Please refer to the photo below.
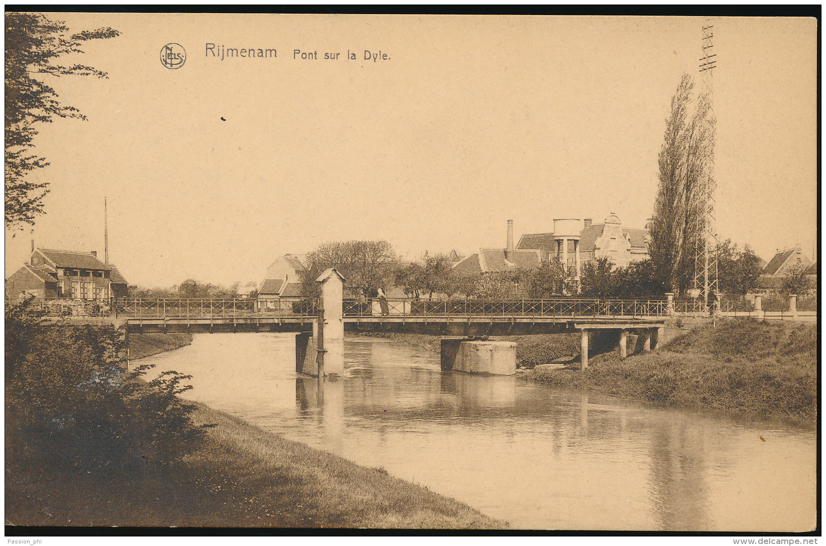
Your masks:
M380 298L344 300L344 316L667 316L665 300Z

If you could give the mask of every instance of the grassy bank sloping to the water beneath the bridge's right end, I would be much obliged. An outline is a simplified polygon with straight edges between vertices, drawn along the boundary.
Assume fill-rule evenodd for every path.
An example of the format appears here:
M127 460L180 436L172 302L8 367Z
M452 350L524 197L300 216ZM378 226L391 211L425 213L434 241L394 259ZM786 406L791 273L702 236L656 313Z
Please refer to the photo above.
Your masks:
M691 330L662 349L620 359L597 355L582 371L537 370L525 377L557 387L629 396L669 406L817 419L817 329L807 323L724 320Z

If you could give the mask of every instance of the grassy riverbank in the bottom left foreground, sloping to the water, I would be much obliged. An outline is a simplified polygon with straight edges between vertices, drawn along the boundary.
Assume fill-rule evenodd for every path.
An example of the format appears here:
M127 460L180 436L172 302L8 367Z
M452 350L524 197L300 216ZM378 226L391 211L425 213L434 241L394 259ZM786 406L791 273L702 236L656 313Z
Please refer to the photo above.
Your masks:
M7 525L503 529L426 487L197 405L205 443L177 463L74 466L6 445ZM59 446L53 446L59 450Z

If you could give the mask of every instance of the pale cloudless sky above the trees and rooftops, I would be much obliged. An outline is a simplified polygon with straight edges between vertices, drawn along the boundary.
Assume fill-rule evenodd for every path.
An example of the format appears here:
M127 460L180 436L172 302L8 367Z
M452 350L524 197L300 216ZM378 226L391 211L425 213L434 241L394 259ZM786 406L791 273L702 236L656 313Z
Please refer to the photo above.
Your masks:
M261 282L278 256L334 240L389 240L408 259L425 250L471 254L503 248L510 219L516 240L552 231L553 218L601 223L610 212L641 228L653 213L671 98L682 74L697 76L701 26L709 24L48 17L71 31L111 26L121 36L60 61L91 65L107 79L47 81L88 121L37 126L36 153L50 166L32 178L51 191L33 230L7 230L6 276L28 259L32 239L102 257L106 197L110 262L145 287ZM811 257L815 21L710 23L719 237L766 260L795 244ZM186 51L178 69L160 61L170 43ZM277 53L221 59L227 48Z

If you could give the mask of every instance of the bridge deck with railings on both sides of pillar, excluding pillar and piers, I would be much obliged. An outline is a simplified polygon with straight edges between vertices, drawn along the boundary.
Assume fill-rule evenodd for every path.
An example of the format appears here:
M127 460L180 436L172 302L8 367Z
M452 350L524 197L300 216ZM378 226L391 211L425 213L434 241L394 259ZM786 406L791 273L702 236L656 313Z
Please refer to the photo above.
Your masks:
M320 309L318 298L274 302L264 309L255 303L127 298L113 302L111 313L126 320L131 333L302 332L312 330ZM664 300L365 298L341 305L345 331L430 335L544 334L568 330L572 323L644 327L670 316Z

